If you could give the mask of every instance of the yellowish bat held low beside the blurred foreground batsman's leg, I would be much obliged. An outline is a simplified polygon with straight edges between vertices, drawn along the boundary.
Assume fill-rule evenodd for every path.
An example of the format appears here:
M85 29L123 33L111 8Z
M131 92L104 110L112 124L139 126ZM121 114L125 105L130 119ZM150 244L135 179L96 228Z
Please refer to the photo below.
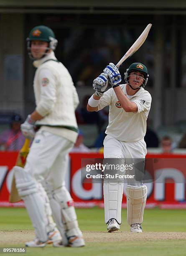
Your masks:
M30 140L28 138L25 139L25 143L21 150L19 151L17 160L15 165L24 167L26 163L26 157L29 153L29 146L30 146ZM13 181L12 181L12 186L11 186L11 191L10 191L10 196L9 196L9 202L19 202L21 200L20 196L18 195L18 190L15 186L15 177L13 175Z

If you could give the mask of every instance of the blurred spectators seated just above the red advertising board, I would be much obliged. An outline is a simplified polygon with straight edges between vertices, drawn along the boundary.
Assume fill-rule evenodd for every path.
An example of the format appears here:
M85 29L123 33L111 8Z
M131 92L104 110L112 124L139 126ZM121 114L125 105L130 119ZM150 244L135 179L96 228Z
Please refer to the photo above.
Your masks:
M103 141L106 136L105 130L108 123L108 111L88 112L87 101L89 97L90 95L86 95L82 100L82 104L76 110L76 118L80 129L77 141L71 150L73 153L103 152ZM25 138L20 131L21 123L23 123L23 118L19 114L12 113L7 116L0 114L1 151L19 151L22 148ZM94 128L94 136L92 134L92 128ZM158 132L152 128L151 120L147 122L147 131L144 139L147 144L148 153L186 153L186 132L182 134L179 141L175 141L174 137L168 133L159 136Z

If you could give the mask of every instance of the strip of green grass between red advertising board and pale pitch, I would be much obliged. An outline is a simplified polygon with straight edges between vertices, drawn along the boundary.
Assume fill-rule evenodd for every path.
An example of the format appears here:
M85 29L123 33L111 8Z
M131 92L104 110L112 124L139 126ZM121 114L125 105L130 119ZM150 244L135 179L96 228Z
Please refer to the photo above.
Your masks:
M82 230L103 231L104 210L99 208L76 209ZM122 231L129 231L127 210L122 210ZM0 231L30 230L31 221L25 208L0 208ZM186 210L145 209L143 231L186 232Z

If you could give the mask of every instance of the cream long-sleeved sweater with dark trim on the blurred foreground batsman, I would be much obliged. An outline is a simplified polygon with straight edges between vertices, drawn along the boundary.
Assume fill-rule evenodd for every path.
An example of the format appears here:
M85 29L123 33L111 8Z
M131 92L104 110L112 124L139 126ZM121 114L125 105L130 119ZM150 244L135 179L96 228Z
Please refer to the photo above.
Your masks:
M68 70L57 61L53 51L33 64L37 67L33 83L36 111L43 116L36 125L75 142L78 136L75 109L79 98Z

